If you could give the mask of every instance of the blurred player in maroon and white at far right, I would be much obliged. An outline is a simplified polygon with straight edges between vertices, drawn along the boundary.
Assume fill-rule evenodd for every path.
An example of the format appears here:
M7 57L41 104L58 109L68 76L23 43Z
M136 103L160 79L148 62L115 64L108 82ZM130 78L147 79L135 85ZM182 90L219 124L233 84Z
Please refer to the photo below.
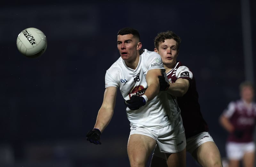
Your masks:
M220 115L220 124L229 132L226 154L229 166L239 166L243 160L244 167L254 167L255 143L253 134L256 125L256 103L253 102L252 83L240 84L241 99L229 103Z

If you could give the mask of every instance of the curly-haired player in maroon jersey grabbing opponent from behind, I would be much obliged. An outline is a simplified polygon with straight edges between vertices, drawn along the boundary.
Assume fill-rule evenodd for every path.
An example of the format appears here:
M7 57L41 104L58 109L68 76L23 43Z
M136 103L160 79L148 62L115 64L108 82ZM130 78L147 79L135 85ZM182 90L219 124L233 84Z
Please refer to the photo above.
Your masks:
M161 55L170 82L167 92L177 97L185 128L187 151L202 166L222 166L218 147L209 134L207 123L200 111L196 81L190 69L177 61L180 37L172 31L159 33L155 38L155 52ZM164 80L160 79L160 83ZM164 83L165 84L165 83ZM164 156L156 147L151 167L166 166Z

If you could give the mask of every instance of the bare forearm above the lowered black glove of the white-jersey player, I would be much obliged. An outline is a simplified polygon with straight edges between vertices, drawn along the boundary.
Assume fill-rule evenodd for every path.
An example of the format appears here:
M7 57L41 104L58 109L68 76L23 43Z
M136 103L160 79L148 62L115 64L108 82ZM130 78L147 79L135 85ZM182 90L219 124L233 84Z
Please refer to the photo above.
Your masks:
M102 133L108 126L114 111L100 108L94 128L97 128Z

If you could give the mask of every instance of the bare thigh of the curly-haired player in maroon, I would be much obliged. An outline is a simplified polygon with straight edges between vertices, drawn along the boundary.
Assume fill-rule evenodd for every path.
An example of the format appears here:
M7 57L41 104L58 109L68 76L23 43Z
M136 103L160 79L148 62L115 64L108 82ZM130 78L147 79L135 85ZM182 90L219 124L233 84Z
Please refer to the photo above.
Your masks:
M220 151L214 142L201 144L194 150L192 156L201 166L222 166Z

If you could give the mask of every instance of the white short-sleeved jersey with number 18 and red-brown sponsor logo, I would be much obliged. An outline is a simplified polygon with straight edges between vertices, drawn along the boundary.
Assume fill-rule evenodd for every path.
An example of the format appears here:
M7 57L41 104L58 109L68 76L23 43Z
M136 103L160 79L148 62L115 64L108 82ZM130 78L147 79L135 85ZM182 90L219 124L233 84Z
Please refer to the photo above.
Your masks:
M127 67L120 57L106 72L105 88L110 86L120 87L125 101L129 100L133 95L141 96L148 88L146 75L151 69L162 69L165 74L161 56L156 52L144 49L136 69ZM138 110L130 110L127 107L126 113L131 126L148 127L150 130L156 130L172 123L172 119L169 119L167 114L170 110L167 93L159 91L159 94L151 101L148 101L146 105Z

